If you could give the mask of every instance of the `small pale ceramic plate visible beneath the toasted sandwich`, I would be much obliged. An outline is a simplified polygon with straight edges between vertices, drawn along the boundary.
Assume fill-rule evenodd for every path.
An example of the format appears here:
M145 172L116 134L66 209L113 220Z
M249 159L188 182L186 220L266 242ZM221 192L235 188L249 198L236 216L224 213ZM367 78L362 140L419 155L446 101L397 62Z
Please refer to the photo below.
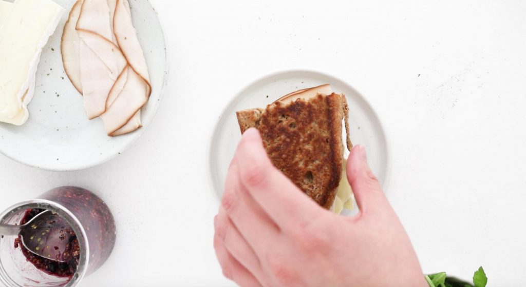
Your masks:
M241 139L236 111L264 108L282 95L324 83L330 83L334 92L346 95L351 141L355 145L361 144L366 147L371 169L380 184L385 187L390 168L389 148L380 120L366 98L349 84L335 77L301 70L275 73L251 83L236 95L222 113L210 143L209 154L210 177L219 197L223 192L230 160ZM347 156L349 152L346 152Z

